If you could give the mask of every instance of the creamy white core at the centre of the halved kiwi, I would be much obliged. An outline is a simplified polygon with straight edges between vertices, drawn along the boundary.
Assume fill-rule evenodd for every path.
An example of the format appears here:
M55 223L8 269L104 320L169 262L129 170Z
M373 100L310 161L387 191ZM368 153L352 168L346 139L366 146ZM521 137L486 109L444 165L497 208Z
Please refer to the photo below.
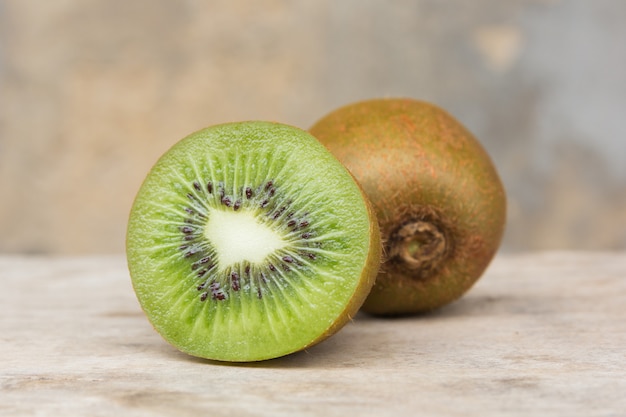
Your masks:
M287 246L282 236L247 210L210 210L204 236L215 248L220 270L243 261L261 263L268 255Z

